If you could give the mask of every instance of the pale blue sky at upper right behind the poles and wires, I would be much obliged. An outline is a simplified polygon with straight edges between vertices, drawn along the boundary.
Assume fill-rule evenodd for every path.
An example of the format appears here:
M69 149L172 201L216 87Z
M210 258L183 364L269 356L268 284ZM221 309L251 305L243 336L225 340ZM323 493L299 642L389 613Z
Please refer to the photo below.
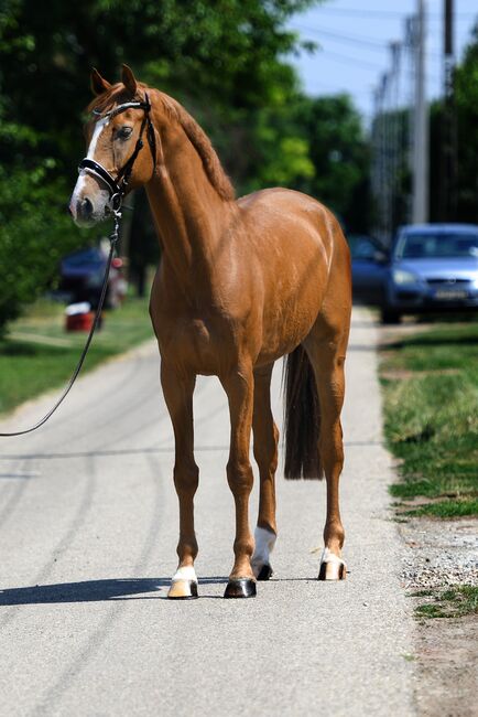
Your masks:
M430 99L442 94L444 0L426 0L426 87ZM290 26L302 40L319 47L301 52L292 62L309 95L349 93L367 120L373 109L373 89L391 65L390 42L404 39L405 18L416 11L417 0L326 0L295 15ZM455 53L457 60L478 21L477 0L455 0ZM411 71L402 62L401 104L411 93Z

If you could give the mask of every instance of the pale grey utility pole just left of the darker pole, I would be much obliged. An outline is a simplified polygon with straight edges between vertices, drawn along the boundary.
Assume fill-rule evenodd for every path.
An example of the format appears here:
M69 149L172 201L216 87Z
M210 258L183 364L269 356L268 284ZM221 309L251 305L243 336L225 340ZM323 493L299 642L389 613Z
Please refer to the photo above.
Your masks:
M428 221L428 106L425 89L425 0L417 0L413 46L415 56L415 98L413 111L413 197L412 223Z

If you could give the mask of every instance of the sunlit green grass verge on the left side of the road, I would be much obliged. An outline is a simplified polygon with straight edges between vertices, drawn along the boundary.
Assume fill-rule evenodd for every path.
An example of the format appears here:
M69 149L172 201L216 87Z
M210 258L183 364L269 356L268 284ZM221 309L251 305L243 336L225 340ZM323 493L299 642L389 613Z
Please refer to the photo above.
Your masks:
M76 366L86 335L66 333L64 307L47 300L10 324L9 334L0 340L0 414L62 386ZM83 372L152 336L148 299L127 299L120 309L106 312Z

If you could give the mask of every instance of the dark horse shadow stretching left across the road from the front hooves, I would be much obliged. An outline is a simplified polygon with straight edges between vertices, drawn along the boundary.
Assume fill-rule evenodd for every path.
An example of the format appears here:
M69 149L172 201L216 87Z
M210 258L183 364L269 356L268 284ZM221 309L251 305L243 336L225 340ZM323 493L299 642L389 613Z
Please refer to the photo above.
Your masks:
M161 588L170 587L171 578L120 578L112 580L85 580L59 582L25 588L0 590L0 608L14 604L41 604L61 602L102 602L106 600L166 599L159 595ZM199 585L226 584L227 577L200 578ZM154 592L156 595L145 595ZM138 597L134 597L138 596Z

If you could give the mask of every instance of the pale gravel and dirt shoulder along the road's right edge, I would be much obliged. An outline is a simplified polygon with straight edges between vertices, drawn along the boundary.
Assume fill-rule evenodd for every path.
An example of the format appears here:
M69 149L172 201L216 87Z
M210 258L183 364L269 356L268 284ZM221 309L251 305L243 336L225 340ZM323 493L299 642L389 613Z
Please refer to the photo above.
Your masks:
M381 328L380 344L387 346L401 335L433 328L433 324ZM478 518L431 520L405 515L420 504L420 497L402 501L396 511L403 539L401 581L411 609L436 604L447 588L478 586ZM414 692L420 717L478 714L478 616L415 617L411 659L416 668Z

